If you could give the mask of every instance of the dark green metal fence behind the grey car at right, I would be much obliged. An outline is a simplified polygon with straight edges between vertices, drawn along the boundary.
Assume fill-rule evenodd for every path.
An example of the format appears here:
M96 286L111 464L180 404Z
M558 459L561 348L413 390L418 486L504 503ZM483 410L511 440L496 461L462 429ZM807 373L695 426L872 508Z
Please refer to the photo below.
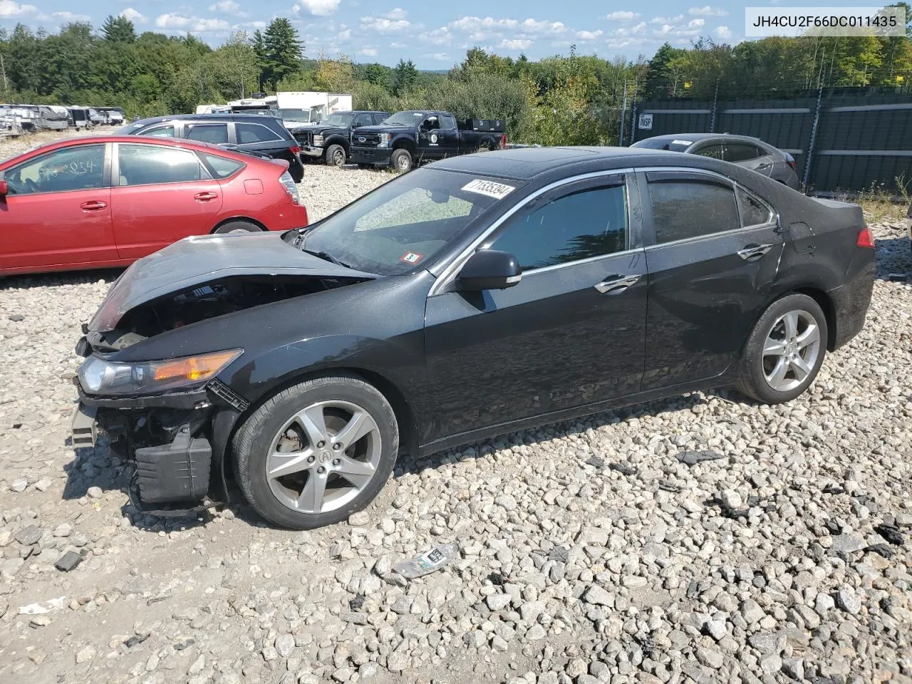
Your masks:
M625 142L668 133L736 133L790 152L811 192L912 188L912 95L638 102ZM649 128L651 126L651 128ZM899 179L899 181L897 181Z

